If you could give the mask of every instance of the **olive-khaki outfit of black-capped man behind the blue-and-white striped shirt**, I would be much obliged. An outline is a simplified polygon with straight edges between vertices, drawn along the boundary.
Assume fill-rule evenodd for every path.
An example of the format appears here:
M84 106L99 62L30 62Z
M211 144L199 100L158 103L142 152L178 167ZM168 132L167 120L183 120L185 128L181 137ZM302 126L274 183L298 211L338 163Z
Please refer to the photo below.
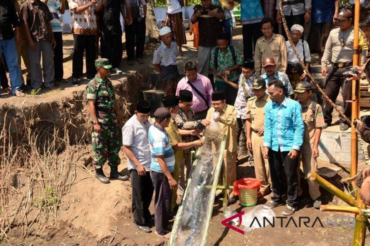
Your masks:
M174 119L171 119L168 127L166 127L165 129L168 134L169 141L171 142L171 146L175 146L178 143L182 143L182 138L180 136L179 129L177 128ZM184 151L174 150L174 154L175 154L175 169L172 175L176 182L178 182L180 176L180 164L184 159ZM176 200L177 200L177 189L172 190L171 211L173 211L174 208L176 207Z

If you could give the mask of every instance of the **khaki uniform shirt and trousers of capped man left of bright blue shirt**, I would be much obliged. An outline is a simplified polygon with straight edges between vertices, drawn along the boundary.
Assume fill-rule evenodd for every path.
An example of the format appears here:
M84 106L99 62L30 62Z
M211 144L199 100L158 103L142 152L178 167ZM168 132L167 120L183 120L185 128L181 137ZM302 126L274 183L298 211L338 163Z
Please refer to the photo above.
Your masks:
M263 158L263 136L258 136L257 132L265 125L265 106L270 101L267 94L258 100L257 97L251 97L247 102L246 118L252 119L251 140L252 151L255 163L256 178L261 181L260 191L272 189L270 167L268 159Z

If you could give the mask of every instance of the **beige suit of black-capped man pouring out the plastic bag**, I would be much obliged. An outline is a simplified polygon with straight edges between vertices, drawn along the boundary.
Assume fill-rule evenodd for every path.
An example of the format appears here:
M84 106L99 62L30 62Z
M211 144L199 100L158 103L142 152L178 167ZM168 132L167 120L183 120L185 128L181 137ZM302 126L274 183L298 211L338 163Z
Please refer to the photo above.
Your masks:
M206 119L211 120L212 113L215 109L209 108ZM221 133L226 135L227 163L225 163L228 175L226 185L232 186L236 181L236 154L238 153L238 144L236 142L236 112L234 106L225 104L220 110ZM234 197L233 190L228 190L229 197Z

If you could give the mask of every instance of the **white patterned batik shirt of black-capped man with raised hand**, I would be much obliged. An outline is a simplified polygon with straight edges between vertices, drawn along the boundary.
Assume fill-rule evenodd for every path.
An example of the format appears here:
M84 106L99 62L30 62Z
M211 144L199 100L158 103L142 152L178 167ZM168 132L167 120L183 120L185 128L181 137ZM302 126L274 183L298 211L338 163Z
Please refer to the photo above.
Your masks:
M254 93L250 87L253 85L253 79L256 77L256 74L253 73L248 79L245 79L244 75L241 73L239 76L239 89L238 95L236 96L235 100L235 111L236 111L236 118L246 119L247 114L247 102L245 101L245 94L242 87L242 83L245 83L245 90L249 97L253 97Z

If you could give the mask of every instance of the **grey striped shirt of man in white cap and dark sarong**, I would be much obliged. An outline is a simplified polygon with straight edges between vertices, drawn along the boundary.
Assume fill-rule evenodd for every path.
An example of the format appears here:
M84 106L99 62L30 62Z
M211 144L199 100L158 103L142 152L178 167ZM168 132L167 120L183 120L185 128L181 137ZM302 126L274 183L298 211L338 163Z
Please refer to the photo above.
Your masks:
M159 45L154 51L153 64L159 64L165 67L169 65L177 65L177 51L177 44L175 42L171 42L171 46L168 48L162 41L161 45Z

